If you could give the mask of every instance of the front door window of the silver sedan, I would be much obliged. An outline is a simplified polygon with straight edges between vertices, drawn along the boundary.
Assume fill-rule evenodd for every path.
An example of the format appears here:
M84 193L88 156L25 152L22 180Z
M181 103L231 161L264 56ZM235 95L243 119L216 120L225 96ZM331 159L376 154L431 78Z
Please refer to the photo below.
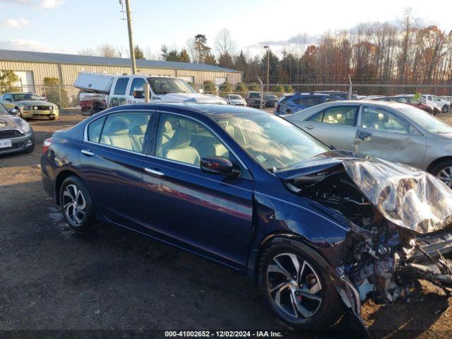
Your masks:
M376 131L410 133L408 122L378 107L364 107L362 110L362 126L364 129Z

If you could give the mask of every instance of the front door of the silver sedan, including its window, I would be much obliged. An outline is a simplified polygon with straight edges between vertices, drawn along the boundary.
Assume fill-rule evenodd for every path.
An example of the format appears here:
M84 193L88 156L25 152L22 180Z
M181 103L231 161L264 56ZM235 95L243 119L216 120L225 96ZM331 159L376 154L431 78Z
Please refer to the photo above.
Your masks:
M355 151L382 159L422 167L427 139L403 116L389 109L362 107Z

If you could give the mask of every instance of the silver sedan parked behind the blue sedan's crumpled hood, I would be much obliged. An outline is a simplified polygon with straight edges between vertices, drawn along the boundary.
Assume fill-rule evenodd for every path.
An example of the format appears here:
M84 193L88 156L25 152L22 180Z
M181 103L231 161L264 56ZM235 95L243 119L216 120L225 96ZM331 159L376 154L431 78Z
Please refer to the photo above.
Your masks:
M283 118L333 148L424 169L452 188L452 127L422 109L396 102L335 101Z

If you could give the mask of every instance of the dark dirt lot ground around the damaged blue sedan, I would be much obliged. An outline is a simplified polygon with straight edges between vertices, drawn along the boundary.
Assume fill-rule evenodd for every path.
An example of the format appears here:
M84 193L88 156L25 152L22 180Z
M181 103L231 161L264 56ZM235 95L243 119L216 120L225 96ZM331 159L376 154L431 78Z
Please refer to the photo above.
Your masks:
M71 232L42 190L40 144L81 119L31 121L35 152L0 158L0 330L287 331L232 270L119 227ZM364 305L374 338L451 336L452 299L422 286L409 303Z

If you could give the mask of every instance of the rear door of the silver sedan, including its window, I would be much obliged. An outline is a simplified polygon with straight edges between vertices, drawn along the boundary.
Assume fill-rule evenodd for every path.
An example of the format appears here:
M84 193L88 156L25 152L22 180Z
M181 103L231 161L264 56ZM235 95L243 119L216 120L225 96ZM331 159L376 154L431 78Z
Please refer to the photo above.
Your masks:
M300 127L328 146L339 150L355 150L359 105L333 106L317 112Z

